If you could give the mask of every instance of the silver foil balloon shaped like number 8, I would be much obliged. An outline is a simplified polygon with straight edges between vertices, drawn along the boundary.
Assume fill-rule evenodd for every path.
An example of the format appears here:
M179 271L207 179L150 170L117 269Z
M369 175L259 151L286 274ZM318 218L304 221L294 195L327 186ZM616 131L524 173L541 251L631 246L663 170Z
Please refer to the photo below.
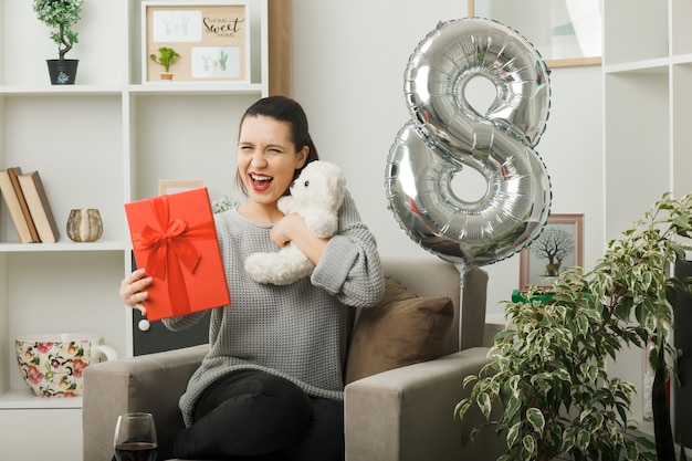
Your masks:
M496 97L486 114L464 97L474 77ZM387 159L386 189L399 226L454 264L484 265L527 247L545 227L551 181L534 150L549 111L549 71L521 34L481 18L440 22L410 56L405 93L411 119ZM486 189L463 200L451 181L479 171Z

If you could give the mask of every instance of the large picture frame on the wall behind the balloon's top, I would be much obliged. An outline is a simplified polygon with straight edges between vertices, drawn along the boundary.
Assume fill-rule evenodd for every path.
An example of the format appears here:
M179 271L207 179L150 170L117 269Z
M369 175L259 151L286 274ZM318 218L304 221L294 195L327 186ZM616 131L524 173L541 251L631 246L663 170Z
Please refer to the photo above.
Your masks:
M524 35L548 67L599 65L602 0L468 0L469 18L493 19Z

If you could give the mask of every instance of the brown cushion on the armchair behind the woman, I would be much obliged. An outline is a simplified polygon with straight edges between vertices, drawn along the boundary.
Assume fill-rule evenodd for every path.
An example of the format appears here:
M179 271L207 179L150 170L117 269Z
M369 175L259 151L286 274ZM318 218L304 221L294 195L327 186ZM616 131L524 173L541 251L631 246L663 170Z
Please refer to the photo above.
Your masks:
M440 357L453 317L451 298L419 297L387 279L382 301L358 316L348 349L346 384Z

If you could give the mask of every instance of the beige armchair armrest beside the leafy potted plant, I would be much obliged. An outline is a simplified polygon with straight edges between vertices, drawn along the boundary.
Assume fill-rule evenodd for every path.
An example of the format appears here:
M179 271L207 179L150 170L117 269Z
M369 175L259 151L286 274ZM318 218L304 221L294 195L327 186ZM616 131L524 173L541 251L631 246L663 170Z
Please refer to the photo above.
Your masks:
M487 350L470 348L346 386L346 461L497 459L505 446L492 428L461 446L462 431L485 421L480 411L469 410L463 421L454 417L470 392L463 378L478 375Z

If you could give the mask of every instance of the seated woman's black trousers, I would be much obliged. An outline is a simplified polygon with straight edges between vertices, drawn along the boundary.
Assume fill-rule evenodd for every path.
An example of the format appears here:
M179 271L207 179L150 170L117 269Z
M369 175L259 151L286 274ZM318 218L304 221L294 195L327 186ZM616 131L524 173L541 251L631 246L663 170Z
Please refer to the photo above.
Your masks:
M258 370L233 371L210 386L193 425L176 439L178 458L342 461L344 404L311 398L293 383Z

